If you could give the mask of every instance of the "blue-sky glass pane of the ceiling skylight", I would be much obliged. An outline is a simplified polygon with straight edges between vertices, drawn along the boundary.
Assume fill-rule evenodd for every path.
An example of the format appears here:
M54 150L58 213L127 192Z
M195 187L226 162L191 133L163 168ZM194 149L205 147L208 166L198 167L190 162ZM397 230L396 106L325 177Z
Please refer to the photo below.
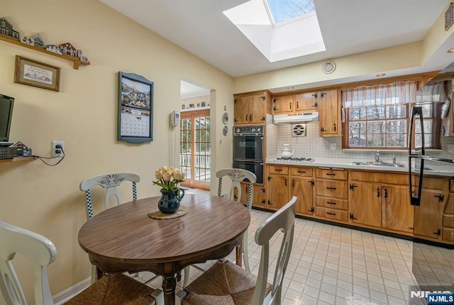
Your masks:
M315 11L312 0L267 0L274 23L282 23Z

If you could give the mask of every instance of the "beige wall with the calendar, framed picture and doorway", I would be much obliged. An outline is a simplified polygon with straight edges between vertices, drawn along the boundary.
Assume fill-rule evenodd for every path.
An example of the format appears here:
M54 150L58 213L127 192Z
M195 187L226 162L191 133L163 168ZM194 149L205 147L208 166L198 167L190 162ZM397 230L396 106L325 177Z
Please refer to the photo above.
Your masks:
M0 219L55 243L57 260L48 267L55 294L90 274L87 254L77 243L86 217L81 180L128 171L140 175L139 197L159 194L152 180L159 166L170 163L169 113L181 108L180 79L214 90L212 168L231 166L231 134L221 144L216 139L226 139L218 119L226 104L233 113L233 79L96 0L0 0L0 8L21 35L40 32L47 43L71 42L92 63L74 70L71 62L0 41L0 93L16 98L10 141L20 140L40 156L50 156L52 140L65 142L67 156L58 166L39 160L0 163ZM16 54L61 67L60 92L14 84ZM118 71L155 82L153 142L116 141ZM131 185L121 188L124 198L130 193ZM103 195L98 190L93 200ZM17 269L29 275L24 265ZM26 295L33 296L31 279Z

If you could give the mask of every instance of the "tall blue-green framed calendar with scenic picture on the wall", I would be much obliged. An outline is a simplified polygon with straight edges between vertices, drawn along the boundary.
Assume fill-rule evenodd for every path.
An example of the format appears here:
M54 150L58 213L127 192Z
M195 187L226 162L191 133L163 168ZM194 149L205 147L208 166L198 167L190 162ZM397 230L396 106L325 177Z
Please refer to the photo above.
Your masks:
M118 72L118 141L153 141L153 81Z

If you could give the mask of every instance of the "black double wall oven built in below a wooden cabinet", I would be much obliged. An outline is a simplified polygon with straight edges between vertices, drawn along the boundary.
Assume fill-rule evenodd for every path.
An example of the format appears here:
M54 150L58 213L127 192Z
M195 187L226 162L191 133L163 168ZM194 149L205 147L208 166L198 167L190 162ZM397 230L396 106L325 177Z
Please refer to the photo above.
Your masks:
M263 126L233 127L233 168L255 173L263 183Z

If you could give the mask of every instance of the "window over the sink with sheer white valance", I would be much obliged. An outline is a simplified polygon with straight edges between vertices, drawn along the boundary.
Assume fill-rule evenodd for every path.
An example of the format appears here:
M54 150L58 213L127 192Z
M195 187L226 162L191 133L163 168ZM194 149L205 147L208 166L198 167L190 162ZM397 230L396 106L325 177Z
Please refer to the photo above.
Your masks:
M407 149L416 81L359 86L342 91L348 149Z

